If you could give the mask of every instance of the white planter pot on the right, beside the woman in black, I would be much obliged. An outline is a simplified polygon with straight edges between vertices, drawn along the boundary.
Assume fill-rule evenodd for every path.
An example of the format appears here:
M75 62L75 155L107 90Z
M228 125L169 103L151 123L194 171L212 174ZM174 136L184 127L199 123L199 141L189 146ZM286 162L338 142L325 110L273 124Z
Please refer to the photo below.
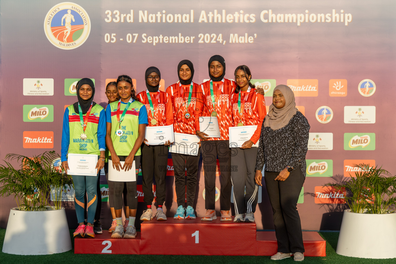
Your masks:
M396 257L396 213L344 211L336 253L358 258Z

